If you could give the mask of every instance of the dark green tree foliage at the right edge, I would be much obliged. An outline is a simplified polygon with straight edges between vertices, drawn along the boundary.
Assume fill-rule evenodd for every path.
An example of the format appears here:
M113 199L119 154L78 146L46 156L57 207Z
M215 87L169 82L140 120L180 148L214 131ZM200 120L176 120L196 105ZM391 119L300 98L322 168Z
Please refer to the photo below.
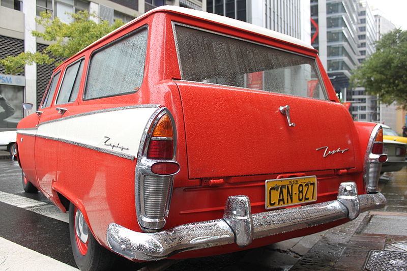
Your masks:
M385 104L407 108L407 31L395 29L375 45L376 52L354 71L353 84Z

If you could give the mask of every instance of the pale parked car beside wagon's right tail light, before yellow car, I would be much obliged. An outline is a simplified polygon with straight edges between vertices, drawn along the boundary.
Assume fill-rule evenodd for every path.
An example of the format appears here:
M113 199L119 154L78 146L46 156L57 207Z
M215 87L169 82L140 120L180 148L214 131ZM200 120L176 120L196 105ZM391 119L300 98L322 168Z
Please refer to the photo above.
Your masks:
M399 171L407 165L405 160L406 147L406 143L383 139L383 153L387 155L387 161L382 165L382 173Z

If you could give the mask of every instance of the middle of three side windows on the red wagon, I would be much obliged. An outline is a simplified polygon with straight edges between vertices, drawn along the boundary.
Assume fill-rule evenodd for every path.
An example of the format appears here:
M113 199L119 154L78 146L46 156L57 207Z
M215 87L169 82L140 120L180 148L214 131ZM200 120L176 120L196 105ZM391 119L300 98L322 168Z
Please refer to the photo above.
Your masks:
M56 104L66 104L75 101L79 92L80 78L82 78L83 58L75 62L65 70L64 78L62 79L60 93L56 98Z

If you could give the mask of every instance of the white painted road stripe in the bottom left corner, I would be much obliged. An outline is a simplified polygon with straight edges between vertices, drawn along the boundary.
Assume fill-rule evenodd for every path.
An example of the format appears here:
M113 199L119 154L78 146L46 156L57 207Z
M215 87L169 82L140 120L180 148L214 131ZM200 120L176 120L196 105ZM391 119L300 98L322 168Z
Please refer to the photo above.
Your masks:
M71 271L79 269L0 237L0 271L6 270Z

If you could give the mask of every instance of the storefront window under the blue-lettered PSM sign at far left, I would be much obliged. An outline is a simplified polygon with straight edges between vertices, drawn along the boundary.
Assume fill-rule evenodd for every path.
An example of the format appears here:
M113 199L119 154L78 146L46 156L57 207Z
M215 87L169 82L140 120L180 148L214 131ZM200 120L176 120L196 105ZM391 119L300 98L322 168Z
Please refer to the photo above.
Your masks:
M16 128L23 118L23 86L0 84L0 130Z

